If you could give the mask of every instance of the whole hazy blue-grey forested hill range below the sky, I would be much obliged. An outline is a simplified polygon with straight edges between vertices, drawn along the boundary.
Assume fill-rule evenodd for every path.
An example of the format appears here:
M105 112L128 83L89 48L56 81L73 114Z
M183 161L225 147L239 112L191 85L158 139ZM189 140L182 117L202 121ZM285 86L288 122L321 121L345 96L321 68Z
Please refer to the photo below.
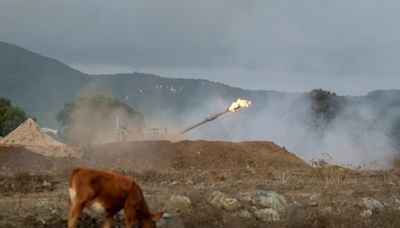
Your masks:
M396 116L400 109L399 90L372 91L365 96L345 99L330 99L332 94L316 93L315 101L319 106L311 105L311 110L303 110L301 97L307 97L308 93L254 91L202 79L164 78L138 72L88 75L55 59L4 42L0 42L0 82L0 96L10 98L28 115L36 117L41 126L51 128L59 126L55 116L65 102L93 95L124 101L141 111L148 121L167 115L166 119L172 117L178 123L180 119L192 121L189 115L198 115L197 119L206 117L237 98L253 101L253 107L246 112L250 118L255 114L271 117L294 113L295 119L301 119L301 115L308 116L311 111L318 114L317 118L322 116L330 120L339 113L333 110L341 107L336 103L343 100L350 106L362 105L374 110L374 118Z

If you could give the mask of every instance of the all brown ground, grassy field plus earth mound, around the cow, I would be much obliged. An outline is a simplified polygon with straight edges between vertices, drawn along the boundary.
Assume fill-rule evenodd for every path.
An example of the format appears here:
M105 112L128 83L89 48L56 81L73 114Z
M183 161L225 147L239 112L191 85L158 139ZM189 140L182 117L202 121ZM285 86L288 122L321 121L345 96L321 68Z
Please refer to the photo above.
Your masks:
M23 148L0 147L0 227L65 227L67 176L78 165L135 177L153 211L172 214L161 227L396 227L400 226L400 171L313 167L271 142L143 141L85 148L83 159L51 158ZM213 192L238 199L229 211L210 202ZM264 221L244 195L273 191L287 204L279 221ZM189 209L176 212L173 195L187 196ZM378 200L371 209L362 199ZM365 212L367 211L367 212ZM101 221L85 213L80 227ZM115 227L121 227L120 219Z

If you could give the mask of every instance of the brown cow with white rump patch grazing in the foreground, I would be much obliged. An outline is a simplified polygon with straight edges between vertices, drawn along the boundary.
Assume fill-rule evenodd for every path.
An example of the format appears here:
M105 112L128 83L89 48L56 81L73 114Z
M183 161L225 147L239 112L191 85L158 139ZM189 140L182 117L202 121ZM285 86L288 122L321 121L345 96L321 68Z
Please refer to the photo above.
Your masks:
M69 177L70 208L68 227L76 226L83 208L105 216L103 227L110 227L113 216L124 209L125 227L136 221L140 227L156 227L163 212L151 214L142 189L135 180L116 173L78 167Z

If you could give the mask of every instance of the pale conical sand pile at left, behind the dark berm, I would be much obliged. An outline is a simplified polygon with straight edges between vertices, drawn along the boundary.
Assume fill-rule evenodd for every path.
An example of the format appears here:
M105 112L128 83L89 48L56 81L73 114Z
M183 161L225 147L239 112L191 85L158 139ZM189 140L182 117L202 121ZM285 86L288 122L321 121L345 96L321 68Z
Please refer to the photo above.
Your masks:
M82 154L79 147L60 143L42 132L32 118L28 118L1 139L0 144L24 147L32 152L53 157L81 157Z

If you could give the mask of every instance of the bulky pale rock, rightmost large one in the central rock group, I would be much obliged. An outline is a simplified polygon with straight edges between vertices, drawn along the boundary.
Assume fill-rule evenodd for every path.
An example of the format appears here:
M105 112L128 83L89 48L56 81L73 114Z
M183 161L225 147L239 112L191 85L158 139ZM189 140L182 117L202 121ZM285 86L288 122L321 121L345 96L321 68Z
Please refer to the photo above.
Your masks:
M264 208L272 208L278 212L286 210L285 197L276 192L259 192L253 199L253 204Z

